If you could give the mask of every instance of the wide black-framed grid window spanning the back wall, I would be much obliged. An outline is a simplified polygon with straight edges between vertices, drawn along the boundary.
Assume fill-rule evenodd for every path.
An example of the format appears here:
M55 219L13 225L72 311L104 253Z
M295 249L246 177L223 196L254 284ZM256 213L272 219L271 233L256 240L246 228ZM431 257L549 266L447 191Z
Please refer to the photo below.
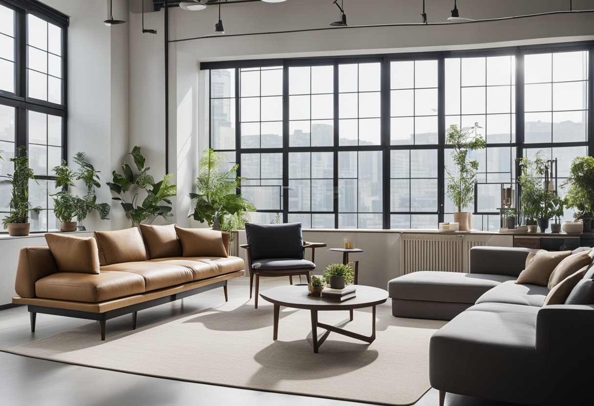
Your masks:
M500 188L516 181L517 158L539 150L558 158L561 183L573 157L594 153L593 58L594 43L582 42L208 62L201 69L211 78L210 145L242 164L247 196L258 208L258 199L274 202L254 221L280 214L311 228L435 229L454 211L444 193L451 160L445 131L478 122L487 148L475 154L481 169L475 205L467 210L475 229L497 230ZM263 114L264 94L242 96L241 89L270 87L262 72L271 69L276 91L266 97L282 106L266 113L282 120L282 136L277 125L265 145L266 121L252 111ZM254 118L249 126L244 109ZM228 148L217 148L222 143Z

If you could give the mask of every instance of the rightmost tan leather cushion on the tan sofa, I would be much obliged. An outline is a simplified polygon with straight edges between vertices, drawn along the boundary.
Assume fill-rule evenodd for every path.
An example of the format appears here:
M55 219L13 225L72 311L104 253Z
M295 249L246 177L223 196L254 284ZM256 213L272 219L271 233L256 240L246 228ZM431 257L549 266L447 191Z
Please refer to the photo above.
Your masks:
M221 231L175 226L175 232L182 244L183 256L227 256Z

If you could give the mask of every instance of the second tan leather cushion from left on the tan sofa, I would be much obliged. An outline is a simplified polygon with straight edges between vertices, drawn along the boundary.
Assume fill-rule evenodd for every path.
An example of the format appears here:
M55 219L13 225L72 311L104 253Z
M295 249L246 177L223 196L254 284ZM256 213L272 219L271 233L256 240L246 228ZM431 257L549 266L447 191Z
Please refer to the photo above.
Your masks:
M94 235L99 247L100 265L149 259L138 227L116 231L95 231Z

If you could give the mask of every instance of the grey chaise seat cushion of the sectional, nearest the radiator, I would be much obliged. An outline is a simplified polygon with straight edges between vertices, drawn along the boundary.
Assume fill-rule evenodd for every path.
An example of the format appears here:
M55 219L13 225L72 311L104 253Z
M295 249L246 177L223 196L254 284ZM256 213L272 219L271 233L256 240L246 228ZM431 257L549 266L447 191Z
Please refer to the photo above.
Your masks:
M515 279L509 275L418 271L388 282L388 293L393 299L474 304L492 287Z

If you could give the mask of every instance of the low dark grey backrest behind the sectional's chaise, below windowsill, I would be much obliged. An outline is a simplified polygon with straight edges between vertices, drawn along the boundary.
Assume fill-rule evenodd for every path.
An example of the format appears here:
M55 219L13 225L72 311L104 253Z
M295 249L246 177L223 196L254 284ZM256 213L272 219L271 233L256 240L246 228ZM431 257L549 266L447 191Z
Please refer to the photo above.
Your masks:
M508 275L517 277L526 265L529 248L473 247L470 249L471 274Z

